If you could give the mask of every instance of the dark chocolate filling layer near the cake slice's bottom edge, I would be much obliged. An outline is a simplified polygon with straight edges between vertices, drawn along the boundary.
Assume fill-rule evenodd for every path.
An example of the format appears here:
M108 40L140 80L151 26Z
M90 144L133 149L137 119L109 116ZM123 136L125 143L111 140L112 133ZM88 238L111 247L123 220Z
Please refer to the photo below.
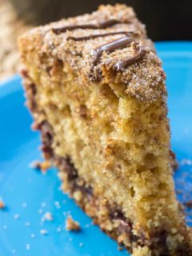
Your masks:
M51 149L51 143L53 142L54 135L50 124L44 121L40 125L36 126L36 128L38 130L41 130L42 150L46 158L51 158L54 164L58 167L58 169L66 173L67 180L71 184L71 193L80 190L83 194L83 197L88 198L88 200L93 202L95 199L97 200L97 198L94 198L92 188L90 186L86 186L85 182L81 186L78 185L78 170L75 169L74 164L70 161L70 157L62 158L54 154L54 151ZM119 206L108 206L108 210L111 222L119 222L119 226L111 233L107 230L103 230L106 231L106 233L108 233L112 238L118 238L119 235L126 234L126 238L130 242L130 244L134 243L138 246L150 246L150 248L154 250L161 249L161 255L169 255L166 246L167 234L165 230L162 230L161 232L158 232L158 234L155 234L154 237L150 238L149 241L149 239L145 238L143 230L141 230L140 236L136 236L133 234L133 223L124 216ZM127 249L131 251L131 247Z

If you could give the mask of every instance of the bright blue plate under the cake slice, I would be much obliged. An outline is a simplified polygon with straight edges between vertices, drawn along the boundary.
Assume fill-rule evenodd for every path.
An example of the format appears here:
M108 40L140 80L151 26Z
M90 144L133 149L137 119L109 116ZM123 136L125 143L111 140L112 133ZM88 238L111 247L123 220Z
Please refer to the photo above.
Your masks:
M192 42L156 46L167 74L172 148L181 163L175 181L183 202L192 198ZM0 198L7 206L0 210L0 255L127 255L62 194L57 170L43 175L29 167L41 153L39 134L30 130L32 119L23 94L18 76L0 86ZM53 215L52 222L43 221L46 212ZM191 226L192 210L186 212ZM81 232L65 230L68 214L81 223Z

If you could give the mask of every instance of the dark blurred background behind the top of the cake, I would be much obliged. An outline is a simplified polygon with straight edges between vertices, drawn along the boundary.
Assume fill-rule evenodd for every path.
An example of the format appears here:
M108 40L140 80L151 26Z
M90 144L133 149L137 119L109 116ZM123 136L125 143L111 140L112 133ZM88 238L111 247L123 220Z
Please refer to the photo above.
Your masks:
M105 0L10 0L21 18L33 25L96 10L98 5L117 1ZM153 40L192 40L192 0L124 0L133 6L146 24Z

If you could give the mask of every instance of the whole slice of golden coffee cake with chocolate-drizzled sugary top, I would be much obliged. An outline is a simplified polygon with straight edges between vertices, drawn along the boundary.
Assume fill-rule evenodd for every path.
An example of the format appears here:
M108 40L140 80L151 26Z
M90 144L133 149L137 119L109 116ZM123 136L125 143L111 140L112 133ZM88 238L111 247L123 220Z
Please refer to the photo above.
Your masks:
M42 151L62 189L134 256L192 255L172 177L166 76L125 5L19 39Z

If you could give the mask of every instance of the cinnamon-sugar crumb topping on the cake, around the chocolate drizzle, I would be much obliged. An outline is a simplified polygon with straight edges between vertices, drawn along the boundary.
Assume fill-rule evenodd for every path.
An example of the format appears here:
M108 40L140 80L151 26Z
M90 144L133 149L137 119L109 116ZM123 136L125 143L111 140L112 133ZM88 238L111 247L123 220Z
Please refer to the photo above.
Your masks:
M110 20L118 20L119 23L106 28L99 27L102 22ZM54 31L63 26L77 25L94 25L98 26L98 29L78 28L61 33ZM123 33L119 34L121 31ZM102 51L99 62L93 65L94 50L126 36L125 32L135 40L126 47L112 52ZM106 36L98 37L98 34L106 34ZM82 38L82 40L74 38ZM122 70L114 70L117 62L133 58L137 54L138 47L140 49L142 47L144 51L142 58L140 57L137 62L131 62ZM23 56L28 52L36 52L39 58L46 54L50 65L55 59L67 62L77 73L78 82L82 84L87 80L95 81L95 78L102 83L123 83L126 84L126 94L143 102L154 102L166 96L165 74L161 61L154 54L153 43L146 37L145 26L138 21L134 10L125 5L99 6L92 14L62 19L30 30L20 38L19 48Z

